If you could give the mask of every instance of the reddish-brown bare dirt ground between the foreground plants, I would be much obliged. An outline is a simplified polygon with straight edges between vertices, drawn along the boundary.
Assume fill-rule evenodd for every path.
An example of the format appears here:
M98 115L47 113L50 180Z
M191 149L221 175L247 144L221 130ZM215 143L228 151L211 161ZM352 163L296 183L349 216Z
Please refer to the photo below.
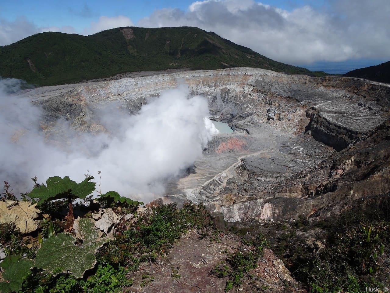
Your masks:
M177 241L165 257L155 263L145 263L130 277L134 279L132 290L137 293L223 293L229 277L218 278L211 270L227 254L249 249L234 234L220 234L202 238L202 232L190 230ZM271 250L265 249L252 279L243 279L241 292L305 292L291 277L284 264ZM148 276L153 276L151 280Z

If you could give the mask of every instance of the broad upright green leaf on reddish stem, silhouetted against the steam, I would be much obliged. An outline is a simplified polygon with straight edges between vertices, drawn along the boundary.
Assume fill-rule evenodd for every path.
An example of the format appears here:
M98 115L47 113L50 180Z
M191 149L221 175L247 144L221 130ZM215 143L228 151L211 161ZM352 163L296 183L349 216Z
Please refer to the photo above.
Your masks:
M68 176L64 178L58 176L49 177L46 180L46 186L42 184L39 187L34 187L28 194L28 197L39 198L38 205L61 198L85 198L95 190L96 183L89 181L92 179L94 177L90 176L82 182L76 183L76 181L70 180Z

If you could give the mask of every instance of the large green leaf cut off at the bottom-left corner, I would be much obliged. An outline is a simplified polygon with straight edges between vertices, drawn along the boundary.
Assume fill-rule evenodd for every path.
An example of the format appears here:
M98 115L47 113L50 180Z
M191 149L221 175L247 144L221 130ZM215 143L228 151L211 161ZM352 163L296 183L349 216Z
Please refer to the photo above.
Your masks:
M11 293L21 290L23 281L30 275L33 266L34 261L31 259L18 260L18 257L6 257L2 262L5 282L0 283L0 292Z

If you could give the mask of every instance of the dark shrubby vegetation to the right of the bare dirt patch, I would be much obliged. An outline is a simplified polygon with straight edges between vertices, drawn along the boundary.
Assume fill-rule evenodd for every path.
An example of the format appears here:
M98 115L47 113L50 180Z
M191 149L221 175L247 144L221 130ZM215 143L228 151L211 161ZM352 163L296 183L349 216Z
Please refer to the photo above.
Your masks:
M271 248L311 293L383 291L388 286L388 199L347 209L324 221L300 217L288 226L275 225L272 229L278 236Z

